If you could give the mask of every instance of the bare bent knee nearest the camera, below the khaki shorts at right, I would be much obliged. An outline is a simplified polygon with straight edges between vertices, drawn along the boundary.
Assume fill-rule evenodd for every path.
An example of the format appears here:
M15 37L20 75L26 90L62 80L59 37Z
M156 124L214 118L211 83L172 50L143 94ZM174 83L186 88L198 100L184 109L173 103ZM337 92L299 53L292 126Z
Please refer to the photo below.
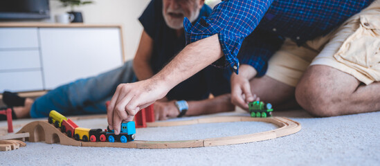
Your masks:
M336 68L309 66L296 87L296 99L314 116L379 111L380 82L365 86Z

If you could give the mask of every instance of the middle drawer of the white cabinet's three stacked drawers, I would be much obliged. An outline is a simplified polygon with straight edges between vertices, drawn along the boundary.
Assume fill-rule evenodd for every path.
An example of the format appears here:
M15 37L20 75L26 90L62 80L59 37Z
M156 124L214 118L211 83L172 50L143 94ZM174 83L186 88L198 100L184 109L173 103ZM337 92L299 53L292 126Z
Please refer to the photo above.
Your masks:
M0 71L41 68L39 50L0 50Z

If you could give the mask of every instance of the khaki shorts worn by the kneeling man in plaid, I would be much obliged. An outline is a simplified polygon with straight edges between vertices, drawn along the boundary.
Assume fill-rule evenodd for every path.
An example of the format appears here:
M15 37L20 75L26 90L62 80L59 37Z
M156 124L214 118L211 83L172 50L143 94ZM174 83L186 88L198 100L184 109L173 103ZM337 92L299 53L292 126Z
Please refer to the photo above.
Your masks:
M298 47L286 39L269 60L266 75L296 86L308 66L325 65L371 84L380 81L380 0L326 36Z

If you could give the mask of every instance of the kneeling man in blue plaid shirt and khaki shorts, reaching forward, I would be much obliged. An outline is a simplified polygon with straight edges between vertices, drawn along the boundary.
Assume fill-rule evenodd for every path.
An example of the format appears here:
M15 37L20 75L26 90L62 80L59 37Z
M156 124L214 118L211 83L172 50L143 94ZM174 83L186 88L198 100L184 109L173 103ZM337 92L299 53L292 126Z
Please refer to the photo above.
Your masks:
M316 116L377 111L380 13L372 1L222 1L197 24L185 19L188 46L163 70L118 86L109 124L118 132L122 120L213 62L235 72L240 107L256 94L279 107L296 96Z

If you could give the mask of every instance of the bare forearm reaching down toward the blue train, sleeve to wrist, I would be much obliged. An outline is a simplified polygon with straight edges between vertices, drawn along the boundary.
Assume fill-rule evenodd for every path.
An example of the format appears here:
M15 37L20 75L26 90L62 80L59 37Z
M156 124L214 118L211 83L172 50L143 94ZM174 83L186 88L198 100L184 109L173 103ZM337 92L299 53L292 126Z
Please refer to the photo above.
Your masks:
M186 46L152 79L172 89L222 56L218 37L213 35Z

